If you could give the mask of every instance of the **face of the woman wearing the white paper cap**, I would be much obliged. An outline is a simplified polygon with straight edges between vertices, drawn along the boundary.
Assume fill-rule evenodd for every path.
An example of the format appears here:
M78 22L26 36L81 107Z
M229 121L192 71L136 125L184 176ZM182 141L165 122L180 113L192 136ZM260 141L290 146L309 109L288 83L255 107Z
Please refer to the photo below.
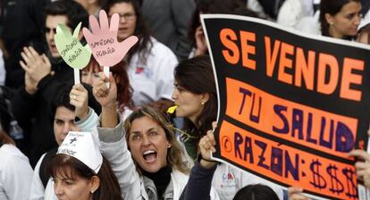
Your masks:
M90 179L85 179L77 174L72 178L71 170L69 174L65 171L56 173L54 181L55 196L59 200L90 200L92 199L91 191L94 190ZM95 190L94 190L95 191Z

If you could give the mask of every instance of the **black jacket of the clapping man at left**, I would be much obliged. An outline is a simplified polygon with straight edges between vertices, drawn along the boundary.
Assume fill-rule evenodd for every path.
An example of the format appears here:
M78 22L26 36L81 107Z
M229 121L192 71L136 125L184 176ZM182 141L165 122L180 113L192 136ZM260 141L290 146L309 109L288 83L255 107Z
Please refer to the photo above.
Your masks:
M17 121L34 119L34 126L30 133L29 162L32 166L39 157L49 149L57 146L55 142L51 114L51 102L58 86L63 83L72 83L73 70L65 63L53 66L55 75L47 75L38 83L38 91L29 95L25 87L20 87L13 98L12 110Z

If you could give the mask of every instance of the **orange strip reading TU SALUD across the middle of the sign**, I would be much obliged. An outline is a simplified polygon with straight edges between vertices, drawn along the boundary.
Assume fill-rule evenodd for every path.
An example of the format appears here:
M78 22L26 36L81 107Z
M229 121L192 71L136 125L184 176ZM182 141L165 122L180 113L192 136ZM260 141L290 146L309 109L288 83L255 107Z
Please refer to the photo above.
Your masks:
M272 96L240 80L226 78L226 115L299 146L349 159L357 119Z

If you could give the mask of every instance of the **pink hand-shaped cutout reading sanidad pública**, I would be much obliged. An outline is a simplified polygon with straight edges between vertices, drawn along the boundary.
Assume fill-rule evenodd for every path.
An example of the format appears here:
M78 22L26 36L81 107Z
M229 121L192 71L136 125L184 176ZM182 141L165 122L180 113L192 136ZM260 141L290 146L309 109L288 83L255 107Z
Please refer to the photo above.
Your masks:
M99 13L100 25L93 15L90 15L88 20L92 32L83 28L83 35L100 66L112 67L116 63L120 63L130 48L139 40L136 36L130 36L122 42L117 41L120 21L120 16L117 13L112 16L110 26L104 10Z

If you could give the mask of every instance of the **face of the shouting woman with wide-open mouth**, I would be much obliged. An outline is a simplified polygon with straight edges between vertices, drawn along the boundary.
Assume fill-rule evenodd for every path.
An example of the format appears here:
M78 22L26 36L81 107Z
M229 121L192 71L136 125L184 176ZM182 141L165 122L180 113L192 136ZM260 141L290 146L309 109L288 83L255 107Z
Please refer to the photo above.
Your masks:
M135 119L129 134L132 157L144 171L156 172L167 164L167 149L171 144L156 121L147 116Z

